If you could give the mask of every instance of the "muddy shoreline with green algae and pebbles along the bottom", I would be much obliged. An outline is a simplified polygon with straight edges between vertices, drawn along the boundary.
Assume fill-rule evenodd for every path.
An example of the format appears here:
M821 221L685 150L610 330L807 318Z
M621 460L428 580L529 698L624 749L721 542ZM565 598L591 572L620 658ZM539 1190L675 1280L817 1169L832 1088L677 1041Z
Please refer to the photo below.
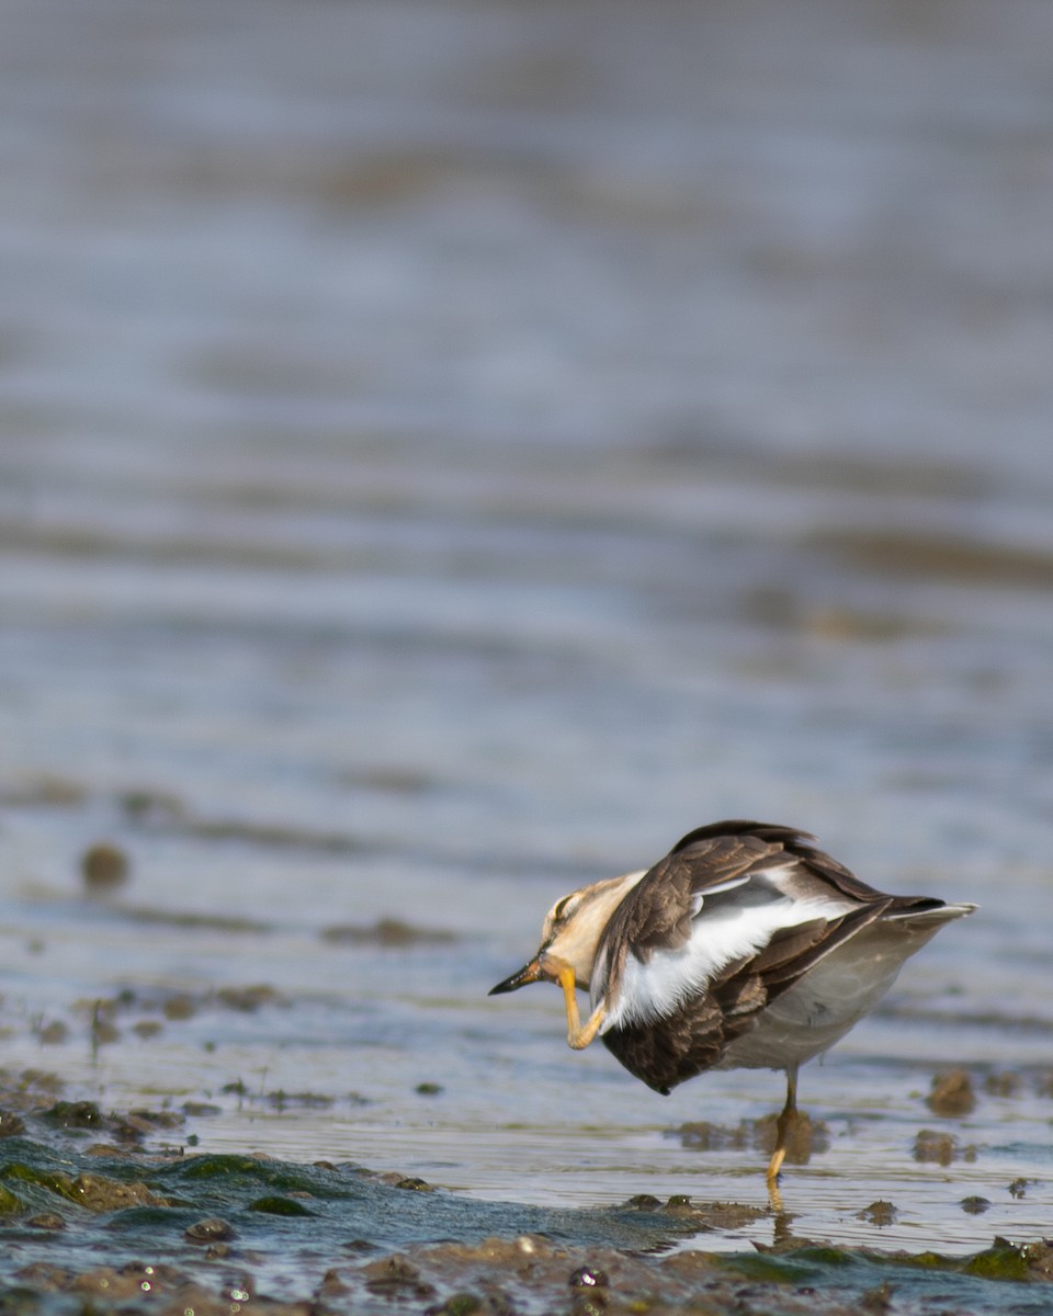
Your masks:
M107 1111L37 1071L4 1076L0 1133L5 1311L1010 1311L1021 1283L1035 1311L1053 1279L1041 1240L882 1253L799 1237L787 1211L774 1245L717 1254L707 1234L765 1212L487 1203L412 1173L197 1153L183 1113Z

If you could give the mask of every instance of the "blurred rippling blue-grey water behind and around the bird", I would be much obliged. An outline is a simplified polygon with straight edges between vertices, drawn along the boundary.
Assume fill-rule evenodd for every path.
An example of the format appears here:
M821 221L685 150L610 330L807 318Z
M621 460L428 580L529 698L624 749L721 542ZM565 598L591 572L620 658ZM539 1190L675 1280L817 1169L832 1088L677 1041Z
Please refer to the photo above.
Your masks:
M207 1150L762 1203L677 1129L779 1075L662 1100L486 999L753 816L983 907L804 1071L799 1230L1048 1229L1049 7L0 22L4 1065Z

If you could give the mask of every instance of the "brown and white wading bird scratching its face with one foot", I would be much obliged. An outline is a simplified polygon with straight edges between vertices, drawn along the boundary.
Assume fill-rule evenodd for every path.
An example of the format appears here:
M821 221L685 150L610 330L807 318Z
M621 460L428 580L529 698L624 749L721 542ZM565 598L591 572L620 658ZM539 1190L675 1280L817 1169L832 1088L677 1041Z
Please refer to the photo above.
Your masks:
M567 1042L579 1050L600 1037L657 1092L708 1069L784 1070L767 1167L774 1198L799 1066L869 1013L945 923L973 909L874 891L794 828L713 822L648 871L557 900L534 958L490 995L558 983ZM578 988L590 992L584 1023Z

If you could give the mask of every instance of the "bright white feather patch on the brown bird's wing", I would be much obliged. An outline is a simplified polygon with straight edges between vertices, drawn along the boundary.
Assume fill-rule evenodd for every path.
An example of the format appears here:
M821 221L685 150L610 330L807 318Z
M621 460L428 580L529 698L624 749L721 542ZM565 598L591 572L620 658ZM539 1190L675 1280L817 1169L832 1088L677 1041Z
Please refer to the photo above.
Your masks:
M767 869L762 882L749 890L752 899L709 901L717 892L729 892L750 882L736 878L704 892L692 915L694 928L679 950L655 950L646 963L632 953L625 957L617 1000L607 1001L602 1033L629 1024L650 1024L667 1019L691 998L704 995L708 984L732 961L757 954L783 928L795 928L812 919L840 919L857 903L833 895L795 898L781 890L782 876L792 866ZM763 892L767 899L757 899Z

